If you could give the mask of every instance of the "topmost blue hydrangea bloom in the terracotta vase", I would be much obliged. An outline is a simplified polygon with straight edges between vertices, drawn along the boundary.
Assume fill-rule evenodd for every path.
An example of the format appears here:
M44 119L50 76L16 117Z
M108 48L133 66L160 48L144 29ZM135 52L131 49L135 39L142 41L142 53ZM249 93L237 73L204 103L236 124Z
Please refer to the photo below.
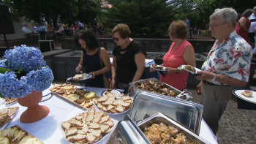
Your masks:
M12 50L6 50L4 57L7 58L8 68L12 71L23 68L29 72L44 67L46 64L39 49L26 47L26 45L15 46Z

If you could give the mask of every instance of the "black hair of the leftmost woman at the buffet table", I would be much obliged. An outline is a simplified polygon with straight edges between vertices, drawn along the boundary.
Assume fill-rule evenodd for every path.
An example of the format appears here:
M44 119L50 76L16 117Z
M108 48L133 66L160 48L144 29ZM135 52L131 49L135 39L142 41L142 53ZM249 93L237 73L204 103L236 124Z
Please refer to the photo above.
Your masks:
M86 47L91 50L99 48L98 39L96 35L90 30L79 31L77 34L75 34L75 45L78 48L81 48L81 45L78 42L79 39L83 39L86 42Z

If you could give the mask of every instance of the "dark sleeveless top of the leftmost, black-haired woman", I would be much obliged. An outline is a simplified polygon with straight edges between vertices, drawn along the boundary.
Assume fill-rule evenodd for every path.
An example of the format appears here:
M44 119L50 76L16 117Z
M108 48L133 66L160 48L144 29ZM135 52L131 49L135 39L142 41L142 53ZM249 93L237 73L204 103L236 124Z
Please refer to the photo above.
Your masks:
M102 69L102 67L105 67L103 61L103 66L100 64L99 50L94 55L88 55L86 50L83 50L83 67L86 67L86 74L96 72ZM103 74L99 74L92 79L85 80L85 84L90 87L104 88Z

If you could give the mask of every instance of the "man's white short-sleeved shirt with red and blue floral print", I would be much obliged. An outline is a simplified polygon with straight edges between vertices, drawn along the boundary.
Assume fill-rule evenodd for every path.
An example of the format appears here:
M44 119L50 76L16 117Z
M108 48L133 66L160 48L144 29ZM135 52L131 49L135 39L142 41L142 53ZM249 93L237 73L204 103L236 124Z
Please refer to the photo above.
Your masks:
M202 70L220 75L228 75L248 82L250 61L252 59L251 46L233 31L217 47L218 40L214 43ZM208 80L211 83L222 85L217 81Z

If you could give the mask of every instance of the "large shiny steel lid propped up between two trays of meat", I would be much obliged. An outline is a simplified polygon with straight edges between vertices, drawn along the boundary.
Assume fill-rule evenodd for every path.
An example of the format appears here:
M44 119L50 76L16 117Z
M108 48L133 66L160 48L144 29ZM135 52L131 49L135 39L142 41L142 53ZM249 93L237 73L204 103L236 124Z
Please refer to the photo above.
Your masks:
M132 121L137 121L138 119L146 119L158 112L167 115L191 132L199 134L203 105L194 102L144 91L135 96L130 117Z

